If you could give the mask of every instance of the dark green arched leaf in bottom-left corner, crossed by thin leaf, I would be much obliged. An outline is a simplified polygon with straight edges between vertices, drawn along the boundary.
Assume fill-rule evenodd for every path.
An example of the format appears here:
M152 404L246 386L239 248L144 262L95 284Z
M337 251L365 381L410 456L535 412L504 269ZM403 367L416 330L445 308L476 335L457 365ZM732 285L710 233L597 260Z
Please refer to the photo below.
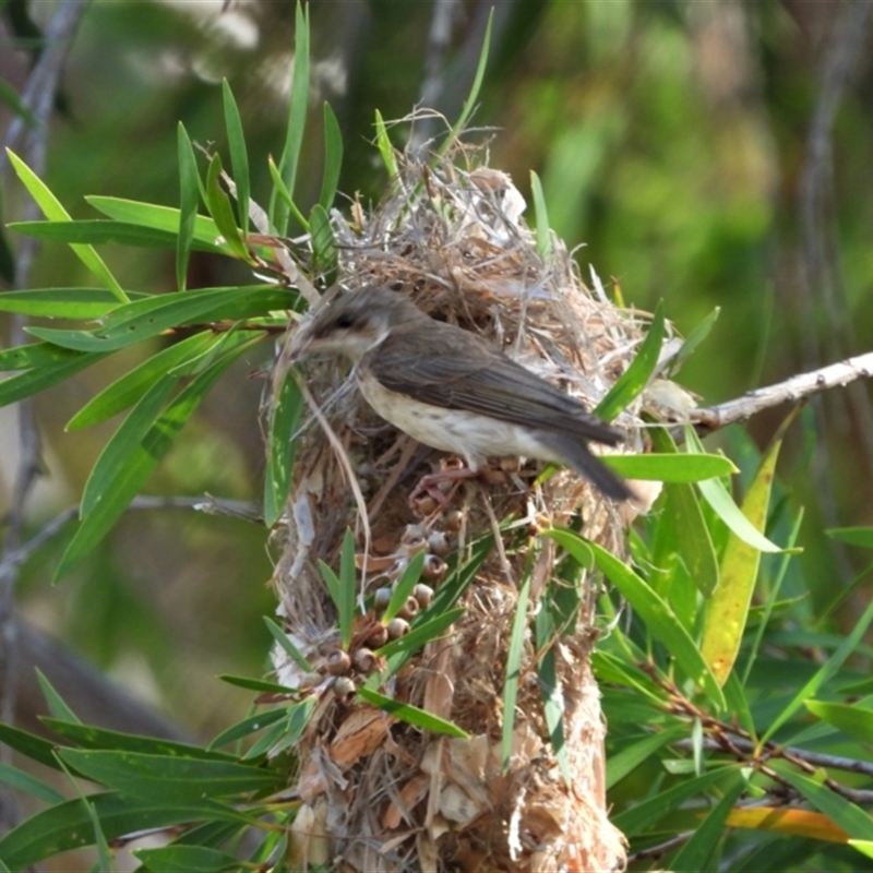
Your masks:
M210 801L179 805L162 798L134 799L107 791L89 796L88 802L94 805L107 839L203 820L246 821L232 809ZM10 830L0 839L0 858L12 870L22 870L93 842L91 817L76 799L44 810Z

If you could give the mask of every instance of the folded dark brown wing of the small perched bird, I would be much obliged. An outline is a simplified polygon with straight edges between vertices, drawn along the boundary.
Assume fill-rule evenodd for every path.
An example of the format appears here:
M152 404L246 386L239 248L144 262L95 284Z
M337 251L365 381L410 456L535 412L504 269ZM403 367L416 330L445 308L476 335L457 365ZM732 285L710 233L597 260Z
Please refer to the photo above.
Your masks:
M476 334L432 322L395 327L362 363L386 388L446 409L615 445L622 433Z

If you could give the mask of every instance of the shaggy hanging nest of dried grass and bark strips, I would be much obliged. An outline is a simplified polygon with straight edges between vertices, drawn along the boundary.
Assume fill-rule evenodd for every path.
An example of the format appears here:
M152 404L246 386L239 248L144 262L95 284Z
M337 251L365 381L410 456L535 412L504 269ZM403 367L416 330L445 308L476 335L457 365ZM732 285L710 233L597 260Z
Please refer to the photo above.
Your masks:
M648 316L615 307L599 283L595 291L586 288L553 235L538 248L522 218L521 194L505 174L477 166L481 158L481 152L456 152L433 166L398 156L398 178L378 208L367 214L355 203L351 219L334 212L339 284L346 292L378 284L407 294L431 316L481 333L590 408L634 358ZM575 627L551 646L563 689L569 781L548 739L529 631L505 767L502 694L519 581L529 574L523 605L529 615L555 584L559 550L548 538L536 539L537 531L581 518L586 537L623 554L636 510L602 499L570 470L537 485L541 464L519 467L507 459L492 462L483 480L459 483L447 510L428 504L429 498L412 509L409 492L445 456L380 419L347 362L315 360L304 372L342 449L310 414L274 576L286 632L313 668L306 674L277 648L276 674L318 701L297 745L300 770L291 793L302 805L294 863L368 873L622 869L623 837L607 818L605 728L588 663L597 636L590 582L577 583L583 596ZM627 440L613 451L643 449L644 402L614 422ZM357 501L348 467L360 489ZM342 649L318 562L337 567L346 528L356 535L366 594L390 589L412 555L428 553L416 594L420 608L429 590L439 591L455 566L469 562L483 537L494 537L497 548L459 600L463 617L381 690L451 720L467 739L423 731L356 699L355 690L380 669L370 655L386 629L374 612L360 614L351 646Z

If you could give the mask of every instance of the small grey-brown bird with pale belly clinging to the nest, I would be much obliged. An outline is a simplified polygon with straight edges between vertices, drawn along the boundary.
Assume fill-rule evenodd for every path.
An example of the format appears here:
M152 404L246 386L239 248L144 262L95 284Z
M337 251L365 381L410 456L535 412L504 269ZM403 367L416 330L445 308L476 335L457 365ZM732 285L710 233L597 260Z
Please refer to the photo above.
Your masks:
M424 477L414 494L423 486L439 500L435 481L476 476L489 457L522 456L571 467L614 501L634 497L586 445L618 445L620 430L400 291L364 286L316 306L291 338L288 358L297 363L318 352L348 358L364 399L391 424L464 458L466 469Z

